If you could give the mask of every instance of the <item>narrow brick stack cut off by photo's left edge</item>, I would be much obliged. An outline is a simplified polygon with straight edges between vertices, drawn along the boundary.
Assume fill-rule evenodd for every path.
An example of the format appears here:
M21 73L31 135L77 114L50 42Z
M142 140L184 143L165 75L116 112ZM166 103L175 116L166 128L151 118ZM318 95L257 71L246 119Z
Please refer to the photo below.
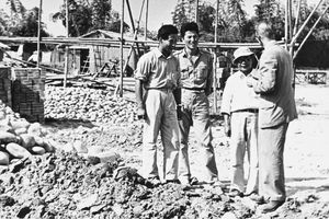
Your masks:
M12 105L11 102L11 80L10 80L10 68L0 67L0 100L7 106Z

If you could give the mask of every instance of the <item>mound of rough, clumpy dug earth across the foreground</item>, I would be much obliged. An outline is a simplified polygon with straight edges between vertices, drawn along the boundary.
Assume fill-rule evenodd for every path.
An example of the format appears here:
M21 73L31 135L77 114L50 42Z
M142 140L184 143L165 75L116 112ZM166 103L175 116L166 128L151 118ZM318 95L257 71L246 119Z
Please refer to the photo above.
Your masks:
M218 218L252 210L232 204L220 188L183 191L179 184L152 187L120 155L56 151L22 159L0 173L3 218Z

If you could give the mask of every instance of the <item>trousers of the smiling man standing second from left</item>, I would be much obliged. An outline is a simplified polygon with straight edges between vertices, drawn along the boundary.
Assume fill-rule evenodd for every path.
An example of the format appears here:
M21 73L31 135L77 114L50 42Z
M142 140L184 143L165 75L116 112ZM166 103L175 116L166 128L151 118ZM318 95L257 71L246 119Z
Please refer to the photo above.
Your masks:
M196 140L200 147L197 165L202 168L201 181L214 182L218 178L218 171L215 161L215 152L212 146L213 135L209 120L209 103L204 92L182 90L182 119L180 126L180 162L179 178L189 180L191 168L189 161L189 135L193 126Z

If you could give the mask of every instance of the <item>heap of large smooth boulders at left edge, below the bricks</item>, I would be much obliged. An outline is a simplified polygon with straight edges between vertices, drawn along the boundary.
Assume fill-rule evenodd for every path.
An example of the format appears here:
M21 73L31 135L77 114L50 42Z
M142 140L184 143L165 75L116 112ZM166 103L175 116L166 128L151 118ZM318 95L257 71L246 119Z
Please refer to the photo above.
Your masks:
M0 165L13 159L44 154L54 148L44 139L39 123L29 123L0 102Z

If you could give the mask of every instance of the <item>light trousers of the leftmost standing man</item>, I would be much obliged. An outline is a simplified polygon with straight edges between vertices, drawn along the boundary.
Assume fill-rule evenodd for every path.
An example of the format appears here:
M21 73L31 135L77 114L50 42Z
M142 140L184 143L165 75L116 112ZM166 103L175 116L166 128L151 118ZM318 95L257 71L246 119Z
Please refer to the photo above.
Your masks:
M180 142L173 94L170 90L148 90L145 99L147 117L143 132L140 174L146 178L159 176L157 139L160 131L163 146L163 180L177 180Z

